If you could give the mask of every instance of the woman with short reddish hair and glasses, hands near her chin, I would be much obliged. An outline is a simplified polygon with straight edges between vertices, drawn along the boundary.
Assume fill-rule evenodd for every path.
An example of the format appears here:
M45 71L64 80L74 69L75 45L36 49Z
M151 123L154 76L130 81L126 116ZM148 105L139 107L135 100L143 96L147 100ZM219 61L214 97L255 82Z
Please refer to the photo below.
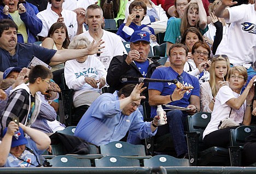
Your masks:
M191 50L192 58L188 63L188 66L184 66L184 71L197 77L200 85L203 82L210 80L211 61L208 61L210 57L210 47L207 43L197 41Z

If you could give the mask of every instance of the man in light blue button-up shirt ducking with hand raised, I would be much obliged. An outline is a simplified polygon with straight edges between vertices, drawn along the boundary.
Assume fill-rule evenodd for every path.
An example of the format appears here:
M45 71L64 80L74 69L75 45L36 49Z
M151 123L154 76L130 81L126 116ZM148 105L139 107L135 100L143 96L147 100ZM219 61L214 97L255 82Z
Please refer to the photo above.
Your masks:
M132 131L140 139L153 136L158 126L158 117L144 122L138 106L141 103L143 83L129 84L119 91L100 95L80 119L74 136L96 146L123 139ZM166 117L165 117L166 120Z

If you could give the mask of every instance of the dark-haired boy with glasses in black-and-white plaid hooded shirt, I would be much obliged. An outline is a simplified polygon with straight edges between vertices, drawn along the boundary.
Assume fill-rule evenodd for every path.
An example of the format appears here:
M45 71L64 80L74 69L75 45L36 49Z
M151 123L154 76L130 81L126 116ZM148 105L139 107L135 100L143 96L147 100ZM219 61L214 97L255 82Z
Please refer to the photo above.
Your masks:
M42 103L37 92L45 93L51 78L53 78L53 74L50 69L43 65L36 65L28 74L29 83L21 83L10 92L0 117L1 134L13 117L18 117L20 123L28 127L36 121Z

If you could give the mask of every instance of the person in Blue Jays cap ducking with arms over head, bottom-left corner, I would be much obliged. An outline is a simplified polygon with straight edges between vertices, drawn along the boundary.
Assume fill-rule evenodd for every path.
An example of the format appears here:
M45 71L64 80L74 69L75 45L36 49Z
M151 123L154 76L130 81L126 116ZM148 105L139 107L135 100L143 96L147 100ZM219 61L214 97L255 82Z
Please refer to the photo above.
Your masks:
M25 133L28 137L24 135ZM3 139L0 143L0 167L41 166L39 155L49 147L50 142L48 135L42 131L11 121L3 130Z

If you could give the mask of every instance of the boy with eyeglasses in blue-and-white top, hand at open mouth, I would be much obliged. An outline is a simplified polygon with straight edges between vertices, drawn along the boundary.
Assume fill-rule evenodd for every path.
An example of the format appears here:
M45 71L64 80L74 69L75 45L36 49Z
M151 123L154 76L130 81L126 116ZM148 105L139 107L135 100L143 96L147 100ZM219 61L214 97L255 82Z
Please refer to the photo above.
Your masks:
M150 33L150 39L156 41L154 29L141 23L147 15L147 6L142 1L133 1L129 7L129 16L126 23L122 23L118 28L117 35L122 41L130 41L131 35L135 31L145 30Z

